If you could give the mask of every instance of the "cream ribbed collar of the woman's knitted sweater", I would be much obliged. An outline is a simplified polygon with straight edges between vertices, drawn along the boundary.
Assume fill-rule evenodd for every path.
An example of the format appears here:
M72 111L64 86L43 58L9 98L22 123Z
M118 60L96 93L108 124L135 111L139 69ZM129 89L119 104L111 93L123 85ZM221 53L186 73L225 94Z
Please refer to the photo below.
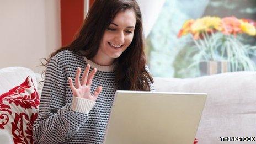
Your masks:
M109 66L102 66L98 65L97 63L94 63L92 60L88 60L86 57L83 57L84 60L90 64L90 67L92 68L97 68L97 71L102 71L102 72L114 72L116 66L118 65L118 61L115 61L112 65Z

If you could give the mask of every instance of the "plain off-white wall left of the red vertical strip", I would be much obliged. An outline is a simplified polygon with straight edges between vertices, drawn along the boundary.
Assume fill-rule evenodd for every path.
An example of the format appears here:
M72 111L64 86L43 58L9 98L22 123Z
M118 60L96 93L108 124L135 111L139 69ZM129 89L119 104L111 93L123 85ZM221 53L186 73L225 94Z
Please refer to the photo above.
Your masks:
M0 68L41 72L40 58L60 46L60 0L0 1Z

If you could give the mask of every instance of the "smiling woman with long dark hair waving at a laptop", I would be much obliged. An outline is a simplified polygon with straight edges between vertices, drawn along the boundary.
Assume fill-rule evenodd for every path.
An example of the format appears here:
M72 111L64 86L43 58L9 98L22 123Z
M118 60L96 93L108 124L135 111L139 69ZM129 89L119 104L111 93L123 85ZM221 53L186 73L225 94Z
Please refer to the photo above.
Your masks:
M95 1L77 38L47 61L36 142L102 143L115 91L154 90L145 63L137 2Z

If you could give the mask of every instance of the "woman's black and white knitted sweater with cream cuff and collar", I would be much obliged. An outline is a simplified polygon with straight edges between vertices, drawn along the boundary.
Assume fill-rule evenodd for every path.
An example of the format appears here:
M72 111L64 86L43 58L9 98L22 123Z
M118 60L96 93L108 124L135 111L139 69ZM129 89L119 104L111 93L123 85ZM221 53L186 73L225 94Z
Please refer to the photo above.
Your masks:
M87 63L90 71L97 68L91 93L98 86L103 87L96 102L73 97L68 84L68 77L74 82L77 67L81 67L82 77ZM116 91L116 65L99 66L70 50L52 57L46 68L39 115L33 127L36 143L103 143ZM150 87L154 90L152 83Z

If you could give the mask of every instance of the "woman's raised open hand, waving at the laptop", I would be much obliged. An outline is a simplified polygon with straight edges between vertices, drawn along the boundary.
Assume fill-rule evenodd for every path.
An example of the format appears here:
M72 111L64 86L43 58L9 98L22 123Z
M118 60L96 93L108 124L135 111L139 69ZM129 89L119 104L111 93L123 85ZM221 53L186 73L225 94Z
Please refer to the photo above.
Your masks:
M99 93L102 91L102 86L98 86L97 89L95 89L93 95L90 94L90 86L92 84L92 80L97 69L93 68L90 74L89 74L89 70L90 70L90 65L87 64L86 70L84 70L84 73L82 76L82 81L80 82L81 68L78 67L76 72L76 77L74 79L75 86L70 77L68 78L68 82L70 84L70 88L72 90L74 97L85 98L85 99L93 100L95 102L98 98Z

